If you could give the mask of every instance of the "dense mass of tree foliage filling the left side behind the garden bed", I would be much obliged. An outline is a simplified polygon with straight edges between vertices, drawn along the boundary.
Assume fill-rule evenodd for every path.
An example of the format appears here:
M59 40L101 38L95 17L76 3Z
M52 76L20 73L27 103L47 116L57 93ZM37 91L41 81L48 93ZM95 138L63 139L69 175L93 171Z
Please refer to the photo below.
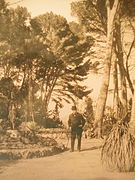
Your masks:
M0 98L6 99L0 118L12 129L17 119L45 125L50 102L61 108L63 100L71 103L91 92L80 82L92 67L84 58L93 39L73 32L62 16L32 19L25 7L0 3Z

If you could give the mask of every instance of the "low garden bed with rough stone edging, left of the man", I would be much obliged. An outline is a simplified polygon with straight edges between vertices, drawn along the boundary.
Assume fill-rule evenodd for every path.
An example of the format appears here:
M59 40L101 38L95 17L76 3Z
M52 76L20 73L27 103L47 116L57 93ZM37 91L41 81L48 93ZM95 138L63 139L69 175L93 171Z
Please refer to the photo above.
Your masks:
M44 129L30 138L7 133L0 137L0 159L31 159L51 156L67 150L65 130Z

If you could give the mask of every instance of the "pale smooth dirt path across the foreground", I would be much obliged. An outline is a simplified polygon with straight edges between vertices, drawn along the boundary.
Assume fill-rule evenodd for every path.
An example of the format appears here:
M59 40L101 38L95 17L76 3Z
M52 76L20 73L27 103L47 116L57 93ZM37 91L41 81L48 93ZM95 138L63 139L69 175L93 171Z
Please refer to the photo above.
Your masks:
M83 151L69 151L45 158L20 160L4 168L2 180L135 180L135 173L104 170L100 162L99 142L85 140ZM92 150L93 149L93 150Z

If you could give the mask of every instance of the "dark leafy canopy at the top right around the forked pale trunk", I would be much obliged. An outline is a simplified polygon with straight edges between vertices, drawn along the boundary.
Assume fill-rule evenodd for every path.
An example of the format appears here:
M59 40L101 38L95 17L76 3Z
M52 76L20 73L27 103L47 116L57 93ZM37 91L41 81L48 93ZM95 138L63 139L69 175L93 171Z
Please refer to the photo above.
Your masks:
M114 0L109 0L110 8ZM107 10L106 0L78 0L71 3L72 15L76 16L79 22L86 27L87 31L102 32L107 30ZM135 16L135 1L121 1L121 16Z

